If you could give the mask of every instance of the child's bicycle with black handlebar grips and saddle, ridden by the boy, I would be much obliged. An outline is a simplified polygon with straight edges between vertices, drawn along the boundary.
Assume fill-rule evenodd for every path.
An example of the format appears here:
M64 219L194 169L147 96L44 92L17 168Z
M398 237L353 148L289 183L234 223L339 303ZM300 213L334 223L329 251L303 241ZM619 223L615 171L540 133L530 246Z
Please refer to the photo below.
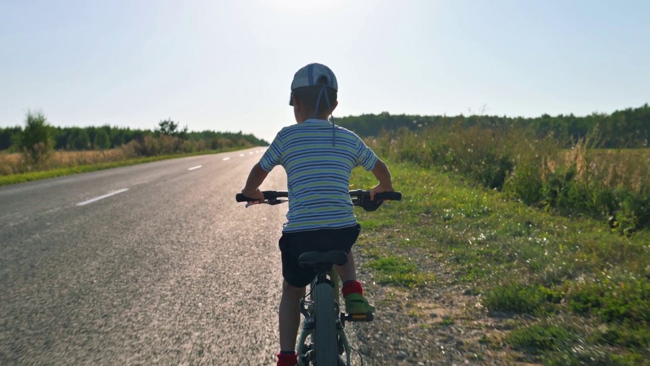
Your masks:
M288 200L287 191L263 191L263 204L281 204ZM360 206L366 211L377 210L385 201L400 201L402 193L377 193L370 201L369 190L352 190L350 198L354 206ZM247 202L251 206L252 199L237 193L237 202ZM352 347L345 335L345 322L372 322L372 314L346 314L339 309L339 275L334 265L346 264L348 255L343 251L309 251L298 257L300 266L311 266L316 277L309 285L309 293L300 300L300 313L304 316L302 332L298 339L298 366L350 366ZM305 300L309 296L309 300ZM309 339L309 345L305 341ZM357 351L358 353L358 351ZM346 361L341 359L345 354ZM361 354L359 354L361 357ZM361 358L363 365L363 358Z

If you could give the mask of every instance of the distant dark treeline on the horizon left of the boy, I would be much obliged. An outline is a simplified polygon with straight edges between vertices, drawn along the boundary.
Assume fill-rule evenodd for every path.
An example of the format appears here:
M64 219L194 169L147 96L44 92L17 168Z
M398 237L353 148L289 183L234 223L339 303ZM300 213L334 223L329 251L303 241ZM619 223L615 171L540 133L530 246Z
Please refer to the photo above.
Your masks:
M52 139L55 150L103 150L117 148L131 143L131 141L144 141L144 137L151 135L158 137L161 128L169 126L170 120L162 121L154 130L142 130L122 128L116 126L88 126L88 127L60 127L47 126L49 137ZM165 124L166 123L166 124ZM173 123L173 122L172 122ZM162 126L162 127L161 127ZM8 128L0 127L0 150L8 152L19 152L21 135L24 132L23 126ZM242 132L188 132L187 129L176 131L163 131L165 134L172 134L180 139L189 141L204 141L213 148L224 146L268 146L263 139L258 139L252 134Z

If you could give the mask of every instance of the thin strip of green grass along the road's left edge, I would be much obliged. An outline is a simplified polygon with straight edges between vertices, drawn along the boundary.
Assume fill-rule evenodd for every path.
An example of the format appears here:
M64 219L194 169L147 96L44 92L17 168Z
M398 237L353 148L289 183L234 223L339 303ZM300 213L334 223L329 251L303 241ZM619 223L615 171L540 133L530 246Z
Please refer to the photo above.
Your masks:
M20 173L12 175L3 175L0 176L0 186L6 186L8 184L18 184L23 182L29 182L31 180L41 180L47 178L55 178L57 176L66 176L73 175L77 173L88 173L91 171L99 171L103 169L111 169L116 167L125 167L129 165L136 165L142 163L158 162L160 160L176 159L176 158L186 158L188 156L197 156L205 154L218 154L221 152L235 151L238 148L224 149L224 150L211 150L211 151L201 151L194 152L190 154L172 154L172 155L160 155L160 156L149 156L146 158L135 158L129 160L123 160L121 162L109 162L109 163L96 163L88 165L76 165L73 167L65 167L59 169L50 169L45 171L34 171L30 173Z

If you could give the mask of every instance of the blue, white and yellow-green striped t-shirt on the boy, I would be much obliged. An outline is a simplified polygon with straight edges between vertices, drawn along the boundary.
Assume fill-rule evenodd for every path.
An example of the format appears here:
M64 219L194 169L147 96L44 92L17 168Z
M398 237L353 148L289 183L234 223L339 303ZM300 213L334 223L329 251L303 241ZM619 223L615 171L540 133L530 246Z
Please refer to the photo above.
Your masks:
M339 126L332 128L328 120L308 119L280 130L260 164L265 171L276 165L287 171L289 212L282 231L356 225L350 173L357 166L370 171L377 160L359 136Z

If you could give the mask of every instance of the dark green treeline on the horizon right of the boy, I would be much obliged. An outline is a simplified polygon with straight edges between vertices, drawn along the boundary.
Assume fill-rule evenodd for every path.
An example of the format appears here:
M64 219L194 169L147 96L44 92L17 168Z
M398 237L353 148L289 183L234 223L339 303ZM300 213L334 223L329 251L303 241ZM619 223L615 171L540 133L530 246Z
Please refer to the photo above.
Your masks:
M532 130L539 138L552 134L556 141L569 147L571 141L591 135L601 141L603 148L642 148L650 146L650 107L644 104L638 108L628 108L611 114L593 113L585 117L571 115L541 115L536 118L498 117L486 115L419 116L391 115L383 112L379 115L360 115L339 117L335 120L339 126L348 128L362 136L379 136L383 130L395 131L400 128L418 130L427 126L450 128L461 126L470 128L479 126L490 129L526 128Z

